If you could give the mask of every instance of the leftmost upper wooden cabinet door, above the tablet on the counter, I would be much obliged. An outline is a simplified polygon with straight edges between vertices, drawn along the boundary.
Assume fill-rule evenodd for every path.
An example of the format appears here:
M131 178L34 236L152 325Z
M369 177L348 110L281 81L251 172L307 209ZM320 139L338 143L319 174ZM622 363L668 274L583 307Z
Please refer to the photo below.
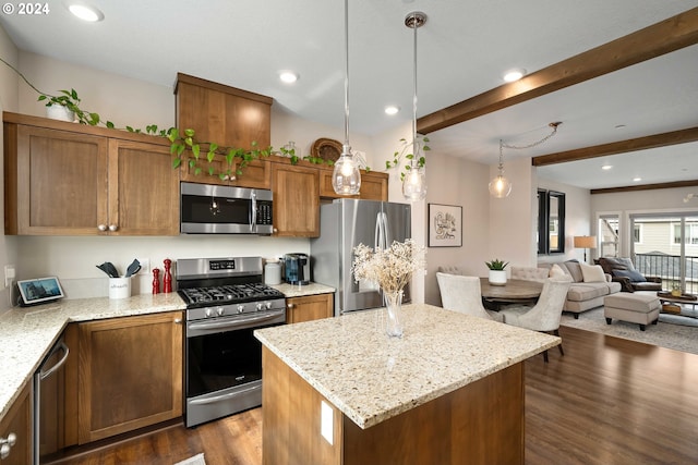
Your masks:
M19 125L16 151L5 151L5 168L15 169L5 181L9 234L101 234L97 227L108 215L105 137Z

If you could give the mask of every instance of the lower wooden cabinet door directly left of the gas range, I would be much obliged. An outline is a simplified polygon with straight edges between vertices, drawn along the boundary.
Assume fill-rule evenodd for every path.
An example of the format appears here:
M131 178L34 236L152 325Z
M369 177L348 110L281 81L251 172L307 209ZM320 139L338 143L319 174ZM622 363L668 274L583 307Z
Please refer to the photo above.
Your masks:
M181 318L172 311L80 323L81 444L181 416Z

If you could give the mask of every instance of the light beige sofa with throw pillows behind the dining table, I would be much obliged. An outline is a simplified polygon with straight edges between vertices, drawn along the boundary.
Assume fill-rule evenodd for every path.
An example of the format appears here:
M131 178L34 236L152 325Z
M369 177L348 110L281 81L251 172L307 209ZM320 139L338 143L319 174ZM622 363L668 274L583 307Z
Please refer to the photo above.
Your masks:
M621 283L614 282L601 267L588 266L577 260L541 264L538 268L512 267L512 279L542 282L550 277L562 274L570 277L573 281L563 311L573 313L575 318L579 318L582 311L603 306L603 297L606 295L621 292Z

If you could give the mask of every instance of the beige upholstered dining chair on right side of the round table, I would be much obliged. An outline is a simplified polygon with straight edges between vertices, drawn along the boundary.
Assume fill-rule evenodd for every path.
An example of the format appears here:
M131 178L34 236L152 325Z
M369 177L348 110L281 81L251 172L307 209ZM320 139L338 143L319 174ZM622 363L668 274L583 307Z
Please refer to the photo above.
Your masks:
M543 283L541 296L535 305L510 305L501 310L504 322L533 331L552 333L559 338L559 319L567 297L571 280L569 277L549 278ZM565 355L561 343L559 354ZM547 363L547 351L543 352L543 359Z

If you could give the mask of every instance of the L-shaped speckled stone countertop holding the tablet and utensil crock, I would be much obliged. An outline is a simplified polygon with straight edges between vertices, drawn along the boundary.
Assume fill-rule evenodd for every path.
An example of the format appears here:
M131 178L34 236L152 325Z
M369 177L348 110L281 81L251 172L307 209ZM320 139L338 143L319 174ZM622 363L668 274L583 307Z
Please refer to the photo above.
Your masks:
M33 307L15 307L0 316L0 420L34 371L72 321L182 310L177 293L139 294L129 298L76 298ZM70 348L70 347L69 347ZM77 355L77 352L74 352Z

